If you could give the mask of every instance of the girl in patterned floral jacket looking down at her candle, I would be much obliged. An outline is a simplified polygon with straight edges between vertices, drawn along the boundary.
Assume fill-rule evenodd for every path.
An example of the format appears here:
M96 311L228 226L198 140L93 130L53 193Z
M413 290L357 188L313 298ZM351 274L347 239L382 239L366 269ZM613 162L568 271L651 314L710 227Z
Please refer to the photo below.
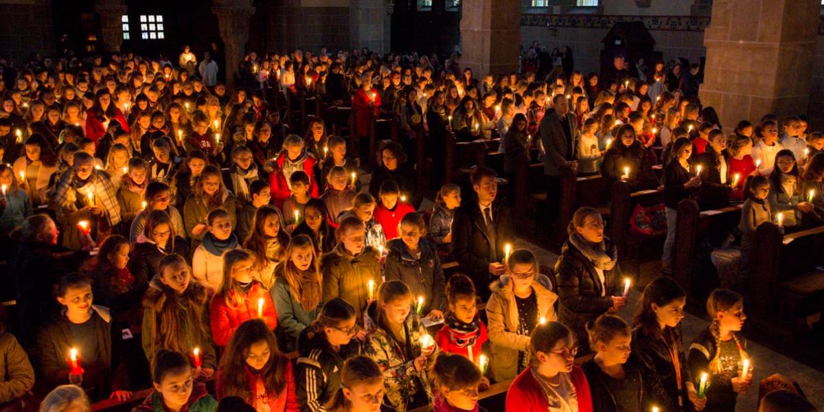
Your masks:
M375 327L366 336L364 353L386 377L389 405L398 412L428 405L432 390L426 370L438 347L411 310L414 297L405 283L388 280L377 289L377 296Z

